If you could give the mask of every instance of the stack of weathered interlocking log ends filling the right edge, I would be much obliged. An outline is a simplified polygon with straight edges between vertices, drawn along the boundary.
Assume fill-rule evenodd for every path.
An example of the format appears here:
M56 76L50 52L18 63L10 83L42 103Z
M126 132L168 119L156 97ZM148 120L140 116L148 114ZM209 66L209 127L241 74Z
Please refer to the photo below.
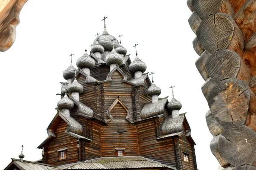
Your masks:
M256 0L187 5L212 154L225 170L256 170Z

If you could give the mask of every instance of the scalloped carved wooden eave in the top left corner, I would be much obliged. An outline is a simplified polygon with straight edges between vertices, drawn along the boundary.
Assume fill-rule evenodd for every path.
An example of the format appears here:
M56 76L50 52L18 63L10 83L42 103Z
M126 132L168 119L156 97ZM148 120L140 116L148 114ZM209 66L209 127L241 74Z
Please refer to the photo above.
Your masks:
M0 2L0 51L11 48L16 39L16 26L20 23L20 10L27 0Z

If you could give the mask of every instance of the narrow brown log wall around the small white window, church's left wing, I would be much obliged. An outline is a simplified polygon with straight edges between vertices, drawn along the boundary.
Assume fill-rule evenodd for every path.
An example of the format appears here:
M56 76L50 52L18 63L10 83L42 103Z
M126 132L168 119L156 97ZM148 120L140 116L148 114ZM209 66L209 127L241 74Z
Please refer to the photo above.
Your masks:
M61 165L67 164L71 162L78 161L77 157L77 139L73 136L68 135L65 133L67 129L67 123L61 119L59 125L55 130L56 138L48 144L46 147L47 150L47 164L52 165ZM67 148L66 159L59 160L59 153L58 150Z

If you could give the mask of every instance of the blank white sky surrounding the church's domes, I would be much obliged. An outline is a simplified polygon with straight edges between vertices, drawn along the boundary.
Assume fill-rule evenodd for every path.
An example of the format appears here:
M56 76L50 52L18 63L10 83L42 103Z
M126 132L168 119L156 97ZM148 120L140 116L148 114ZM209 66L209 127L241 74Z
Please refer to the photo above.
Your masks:
M72 2L72 3L71 3ZM109 34L122 34L122 45L155 72L160 97L175 98L183 107L192 130L198 169L217 170L218 161L209 143L207 101L201 92L204 80L195 67L198 55L192 47L195 34L189 27L192 12L186 0L29 0L20 12L17 37L0 53L2 65L0 169L18 158L21 145L25 160L41 159L36 147L47 138L46 128L56 114L64 78L62 72L90 51L96 33L102 34L104 16Z

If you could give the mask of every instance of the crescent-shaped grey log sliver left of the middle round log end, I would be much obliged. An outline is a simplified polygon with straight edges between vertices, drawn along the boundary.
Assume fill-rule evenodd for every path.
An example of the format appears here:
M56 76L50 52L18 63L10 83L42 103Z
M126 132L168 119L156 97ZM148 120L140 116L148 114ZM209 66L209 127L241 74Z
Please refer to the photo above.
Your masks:
M205 81L209 78L205 68L205 62L210 55L211 53L205 50L203 54L201 54L201 56L195 61L195 66Z

